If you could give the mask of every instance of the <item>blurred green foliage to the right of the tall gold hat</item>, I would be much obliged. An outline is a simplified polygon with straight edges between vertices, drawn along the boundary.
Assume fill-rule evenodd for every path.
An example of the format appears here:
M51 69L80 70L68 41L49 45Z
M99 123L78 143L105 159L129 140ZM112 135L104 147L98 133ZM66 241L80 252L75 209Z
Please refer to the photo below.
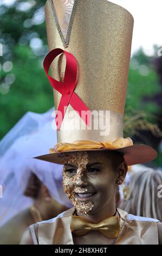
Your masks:
M157 52L156 46L154 46L154 52ZM147 102L144 100L144 96L152 97L161 92L159 78L152 64L154 56L148 57L142 49L139 49L131 58L125 122L131 121L129 126L125 125L125 137L135 135L135 130L139 127L138 122L141 123L142 120L148 122L148 124L156 124L157 115L161 114L161 108L155 101Z

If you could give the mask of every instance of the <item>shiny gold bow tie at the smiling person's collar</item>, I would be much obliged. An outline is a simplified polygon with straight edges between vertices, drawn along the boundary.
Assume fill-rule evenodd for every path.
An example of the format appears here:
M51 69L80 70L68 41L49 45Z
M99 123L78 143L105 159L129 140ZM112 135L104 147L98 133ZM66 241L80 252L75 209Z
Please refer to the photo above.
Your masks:
M85 218L79 216L72 216L70 229L72 233L76 236L85 235L92 230L99 230L103 235L107 236L108 238L114 239L116 236L119 235L120 223L117 216L106 218L99 223L92 223L85 220Z

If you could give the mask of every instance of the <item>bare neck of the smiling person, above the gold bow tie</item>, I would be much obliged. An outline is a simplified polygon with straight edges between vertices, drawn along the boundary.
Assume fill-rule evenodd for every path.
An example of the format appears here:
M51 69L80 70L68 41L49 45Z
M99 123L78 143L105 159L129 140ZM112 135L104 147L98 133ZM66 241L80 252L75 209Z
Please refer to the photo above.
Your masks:
M114 201L111 204L109 203L108 205L105 205L99 211L95 211L94 213L89 212L88 216L80 215L78 212L77 212L77 215L80 216L80 217L85 218L89 222L99 223L100 221L103 221L106 218L114 216L115 212L116 212L116 204L115 204L115 201ZM118 215L116 215L116 216L118 216Z

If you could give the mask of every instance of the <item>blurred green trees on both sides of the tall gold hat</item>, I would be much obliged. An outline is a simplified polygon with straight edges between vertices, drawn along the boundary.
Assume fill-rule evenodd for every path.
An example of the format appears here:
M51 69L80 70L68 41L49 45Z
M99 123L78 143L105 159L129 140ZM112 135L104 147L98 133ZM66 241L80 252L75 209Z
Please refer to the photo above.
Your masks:
M53 90L42 66L48 52L44 19L46 1L12 2L11 5L0 3L0 43L3 46L3 56L0 57L0 139L26 112L43 113L54 105ZM156 53L157 47L154 49ZM144 121L147 125L156 125L157 114L161 114L161 108L155 102L143 100L144 96L161 92L152 66L154 57L157 56L146 56L142 49L132 56L125 107L125 137L134 136ZM160 153L154 163L157 166L162 164Z

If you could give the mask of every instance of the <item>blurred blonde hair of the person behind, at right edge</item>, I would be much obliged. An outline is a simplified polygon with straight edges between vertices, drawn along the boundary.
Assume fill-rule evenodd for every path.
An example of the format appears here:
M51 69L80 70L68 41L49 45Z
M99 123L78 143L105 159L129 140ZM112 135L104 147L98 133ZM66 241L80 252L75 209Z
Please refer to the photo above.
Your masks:
M125 186L125 200L119 208L147 218L162 222L162 172L145 168L130 175L129 184Z

